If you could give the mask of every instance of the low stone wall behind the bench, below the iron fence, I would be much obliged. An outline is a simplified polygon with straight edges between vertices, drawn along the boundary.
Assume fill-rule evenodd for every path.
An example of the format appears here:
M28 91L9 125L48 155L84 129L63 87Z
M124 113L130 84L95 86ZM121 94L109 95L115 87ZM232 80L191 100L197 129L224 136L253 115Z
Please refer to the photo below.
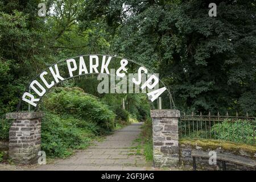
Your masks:
M207 141L205 141L205 143L207 143ZM206 144L204 144L203 146L201 146L199 143L196 142L192 142L192 140L189 140L188 142L180 142L179 144L179 157L180 157L180 165L183 166L186 169L192 169L192 165L193 165L193 159L191 156L191 151L193 150L203 150L203 151L216 151L217 154L220 153L224 153L224 154L231 154L231 155L239 155L239 156L243 156L243 157L247 157L250 159L254 159L256 160L256 153L254 154L254 152L247 152L245 150L241 149L237 149L234 150L234 148L232 148L231 150L225 150L225 147L222 147L222 144L220 143L217 146L209 146L207 147ZM205 159L205 158L196 158L196 168L199 170L222 170L222 163L220 161L217 160L217 164L216 165L210 165L209 164L209 159ZM230 171L251 171L254 170L253 168L249 168L249 167L245 167L245 166L241 166L241 165L237 165L234 163L229 163L226 162L226 170L230 170Z

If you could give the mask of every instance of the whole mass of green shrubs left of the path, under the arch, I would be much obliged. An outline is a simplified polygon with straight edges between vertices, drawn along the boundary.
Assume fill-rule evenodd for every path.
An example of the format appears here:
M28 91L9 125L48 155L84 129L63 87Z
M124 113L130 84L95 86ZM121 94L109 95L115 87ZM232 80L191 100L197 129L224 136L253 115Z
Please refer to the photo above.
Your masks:
M114 113L97 97L80 88L54 88L41 106L42 150L49 157L64 158L75 148L84 148L97 135L114 129Z

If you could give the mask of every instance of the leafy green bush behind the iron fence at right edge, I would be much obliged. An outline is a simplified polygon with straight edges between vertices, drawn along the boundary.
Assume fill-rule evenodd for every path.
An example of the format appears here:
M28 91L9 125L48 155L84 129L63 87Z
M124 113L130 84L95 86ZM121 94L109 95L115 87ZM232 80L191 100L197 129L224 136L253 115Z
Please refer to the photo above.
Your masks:
M253 123L241 121L241 119L236 122L226 120L212 126L211 133L217 139L253 143L253 129Z

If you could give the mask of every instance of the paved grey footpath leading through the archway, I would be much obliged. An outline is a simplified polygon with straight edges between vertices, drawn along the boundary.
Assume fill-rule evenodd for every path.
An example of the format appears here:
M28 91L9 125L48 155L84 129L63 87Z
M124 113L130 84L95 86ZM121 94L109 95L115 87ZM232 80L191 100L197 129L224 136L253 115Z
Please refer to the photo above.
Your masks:
M134 142L141 133L143 123L133 123L119 129L101 142L86 150L79 150L68 159L57 159L53 164L31 167L15 167L16 170L152 170L152 163L147 163L143 155L136 153ZM1 170L0 166L0 170ZM13 166L14 167L14 166ZM2 168L3 169L3 168ZM12 169L12 168L5 168ZM14 169L14 170L15 170Z

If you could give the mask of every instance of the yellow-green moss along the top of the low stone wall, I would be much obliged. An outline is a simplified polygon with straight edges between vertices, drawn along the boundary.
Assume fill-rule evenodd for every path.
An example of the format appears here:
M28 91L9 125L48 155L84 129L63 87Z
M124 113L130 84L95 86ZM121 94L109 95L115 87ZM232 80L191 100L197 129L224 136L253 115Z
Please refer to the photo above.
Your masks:
M202 150L216 150L216 148L222 148L222 150L232 152L232 154L241 155L241 152L245 152L251 158L256 158L256 146L252 146L244 143L227 142L223 140L212 139L180 139L180 144L191 145L192 148L201 147Z

